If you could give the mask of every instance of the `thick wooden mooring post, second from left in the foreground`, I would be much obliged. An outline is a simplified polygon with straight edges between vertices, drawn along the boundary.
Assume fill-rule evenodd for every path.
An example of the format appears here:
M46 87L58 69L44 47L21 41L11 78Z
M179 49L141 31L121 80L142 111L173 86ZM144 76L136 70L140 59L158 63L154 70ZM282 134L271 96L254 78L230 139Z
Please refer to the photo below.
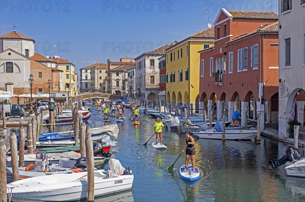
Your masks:
M19 166L18 166L18 150L17 150L17 136L15 133L10 135L10 147L11 147L11 163L13 171L13 181L19 180Z

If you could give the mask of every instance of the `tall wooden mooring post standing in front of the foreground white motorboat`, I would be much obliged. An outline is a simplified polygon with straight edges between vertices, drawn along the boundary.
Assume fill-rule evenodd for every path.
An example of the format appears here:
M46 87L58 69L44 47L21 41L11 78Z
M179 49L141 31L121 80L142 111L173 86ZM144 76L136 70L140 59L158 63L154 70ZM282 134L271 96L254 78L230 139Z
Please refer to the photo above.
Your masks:
M87 201L94 201L94 155L90 127L86 127Z

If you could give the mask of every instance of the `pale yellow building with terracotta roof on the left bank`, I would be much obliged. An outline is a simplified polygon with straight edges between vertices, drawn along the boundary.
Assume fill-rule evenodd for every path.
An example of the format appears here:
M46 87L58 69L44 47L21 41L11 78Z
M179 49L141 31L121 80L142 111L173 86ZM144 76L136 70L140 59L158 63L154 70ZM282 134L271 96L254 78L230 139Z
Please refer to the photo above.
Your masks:
M75 65L68 60L63 60L60 58L52 58L57 62L57 69L63 70L63 91L69 93L69 97L77 95L77 90L75 88L77 84L77 76L74 76ZM75 80L76 79L76 80Z

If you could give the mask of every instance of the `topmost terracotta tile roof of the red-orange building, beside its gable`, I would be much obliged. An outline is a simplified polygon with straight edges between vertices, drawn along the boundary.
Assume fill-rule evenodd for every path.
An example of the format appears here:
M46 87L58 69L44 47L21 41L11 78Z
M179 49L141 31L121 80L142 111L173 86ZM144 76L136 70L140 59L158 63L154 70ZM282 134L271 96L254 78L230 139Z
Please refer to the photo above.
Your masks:
M233 18L253 18L253 19L279 19L273 12L265 11L228 11Z

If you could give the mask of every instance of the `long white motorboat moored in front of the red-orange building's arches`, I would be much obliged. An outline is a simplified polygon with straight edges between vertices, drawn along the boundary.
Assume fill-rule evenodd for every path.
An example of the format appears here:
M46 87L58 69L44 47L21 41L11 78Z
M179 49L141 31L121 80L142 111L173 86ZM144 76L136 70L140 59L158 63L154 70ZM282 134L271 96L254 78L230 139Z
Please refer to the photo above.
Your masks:
M256 134L256 130L227 130L226 140L251 140L256 137ZM215 129L196 132L194 135L199 138L222 140L222 131L217 132Z

